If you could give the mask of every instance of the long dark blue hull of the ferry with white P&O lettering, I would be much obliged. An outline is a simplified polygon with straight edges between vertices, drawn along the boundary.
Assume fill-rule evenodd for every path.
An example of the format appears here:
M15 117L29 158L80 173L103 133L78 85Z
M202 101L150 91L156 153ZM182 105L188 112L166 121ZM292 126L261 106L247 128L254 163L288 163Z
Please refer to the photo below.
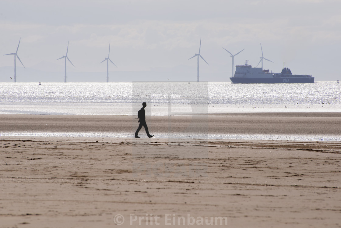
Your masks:
M314 83L314 77L242 78L230 77L233 84Z

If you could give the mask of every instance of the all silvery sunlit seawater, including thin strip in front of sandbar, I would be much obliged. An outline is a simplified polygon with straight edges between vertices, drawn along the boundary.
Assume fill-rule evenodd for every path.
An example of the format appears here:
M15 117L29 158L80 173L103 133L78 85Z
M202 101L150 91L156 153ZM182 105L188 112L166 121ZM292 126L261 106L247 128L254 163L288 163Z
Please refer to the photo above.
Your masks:
M0 114L146 115L211 113L341 112L341 84L232 84L231 82L0 83ZM50 133L47 136L67 136ZM341 133L340 133L341 135ZM0 132L0 136L46 136L46 132ZM79 132L72 136L85 135ZM103 136L103 135L101 135ZM100 136L100 137L101 137ZM118 137L104 135L103 137ZM131 137L122 135L119 137ZM181 136L160 136L177 137ZM194 135L193 138L203 137ZM341 141L341 136L204 136L216 139Z

